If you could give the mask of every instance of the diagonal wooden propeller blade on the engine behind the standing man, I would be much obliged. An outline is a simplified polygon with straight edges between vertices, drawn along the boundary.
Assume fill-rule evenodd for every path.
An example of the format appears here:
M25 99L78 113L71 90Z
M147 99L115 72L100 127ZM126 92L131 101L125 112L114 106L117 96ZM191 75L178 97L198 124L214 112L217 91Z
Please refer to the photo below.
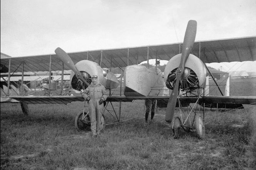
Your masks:
M69 57L69 55L62 50L60 47L58 47L55 50L55 53L57 54L57 56L59 57L59 59L64 62L67 67L69 67L69 69L71 69L72 71L74 71L74 73L76 74L76 77L78 79L80 79L81 81L83 81L84 84L86 84L87 86L89 86L90 84L84 79L83 74L81 74L80 71L77 70L74 62L71 60L71 58Z

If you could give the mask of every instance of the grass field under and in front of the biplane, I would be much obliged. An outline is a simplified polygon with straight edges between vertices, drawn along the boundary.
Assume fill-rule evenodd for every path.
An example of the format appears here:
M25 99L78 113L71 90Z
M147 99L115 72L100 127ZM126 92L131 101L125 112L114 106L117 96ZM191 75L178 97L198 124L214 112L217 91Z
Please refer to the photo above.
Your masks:
M119 103L114 103L118 110ZM204 140L192 133L174 139L165 110L144 124L144 101L122 103L121 119L101 136L77 131L74 118L83 102L67 105L1 104L1 170L256 169L256 106L205 113ZM88 109L88 108L86 108ZM115 120L108 113L106 122Z

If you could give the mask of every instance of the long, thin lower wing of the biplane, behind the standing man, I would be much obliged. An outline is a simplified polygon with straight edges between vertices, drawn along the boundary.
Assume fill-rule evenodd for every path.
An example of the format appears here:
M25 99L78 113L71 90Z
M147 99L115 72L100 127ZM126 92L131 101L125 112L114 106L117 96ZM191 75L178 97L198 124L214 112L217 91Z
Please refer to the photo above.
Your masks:
M67 104L72 101L84 101L82 96L10 96L10 98L17 101L22 101L27 104ZM167 106L168 96L109 96L106 101L111 102L131 102L133 100L145 100L156 99L157 105L161 108ZM181 96L179 98L182 106L186 106L188 103L195 103L197 101L196 96ZM256 105L256 96L203 96L199 99L199 104L205 103L205 107L211 108L240 108L241 104L254 104ZM217 106L218 104L218 106ZM178 99L177 104L178 107Z

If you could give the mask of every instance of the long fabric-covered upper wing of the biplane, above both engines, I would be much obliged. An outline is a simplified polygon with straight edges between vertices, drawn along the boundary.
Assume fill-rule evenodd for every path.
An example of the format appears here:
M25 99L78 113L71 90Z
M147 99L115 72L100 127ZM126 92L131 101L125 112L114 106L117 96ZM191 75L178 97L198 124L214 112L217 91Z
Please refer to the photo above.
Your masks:
M180 45L182 43L69 52L67 54L69 54L74 64L88 59L98 63L101 67L126 67L146 61L147 57L148 59L170 60L173 56L180 53ZM197 41L194 43L192 54L200 56L200 59L205 63L256 61L256 36ZM1 59L1 72L8 71L9 61L11 62L11 72L21 72L22 62L24 62L25 72L49 71L50 58L52 59L52 71L62 70L62 62L56 54L47 54ZM64 70L69 70L69 67L65 64Z

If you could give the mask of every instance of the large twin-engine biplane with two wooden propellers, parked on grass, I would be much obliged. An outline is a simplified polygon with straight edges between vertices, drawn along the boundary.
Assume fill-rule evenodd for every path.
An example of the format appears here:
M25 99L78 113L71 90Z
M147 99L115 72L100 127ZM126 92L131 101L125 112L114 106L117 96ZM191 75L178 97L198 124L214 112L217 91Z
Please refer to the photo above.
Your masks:
M195 42L196 30L197 22L190 20L183 44L69 53L58 47L55 50L56 54L1 59L1 69L8 70L8 88L10 73L15 71L20 71L22 74L26 71L49 71L51 75L52 70L63 72L71 69L71 85L76 90L88 87L91 76L96 74L100 77L101 84L109 89L107 104L155 99L158 101L158 107L167 108L165 120L172 123L172 131L176 137L183 129L188 132L193 131L199 138L203 138L204 117L201 117L201 114L204 114L204 107L242 108L242 104L256 105L256 96L224 96L222 92L222 96L206 95L206 70L210 74L211 72L205 63L256 61L256 36ZM138 65L149 59L168 60L164 73L157 66L148 68ZM111 72L113 67L120 67L121 75L124 76L124 89L121 89L122 81L119 84ZM220 90L216 81L215 83ZM169 96L161 93L165 84L171 91ZM120 95L113 95L111 89L117 86L120 86ZM23 108L27 108L27 104L67 104L72 101L84 101L82 96L11 96L11 98L20 101ZM180 115L174 116L175 112ZM79 113L75 126L83 129L89 126L88 122L88 114L84 117L84 113ZM104 128L104 116L102 122Z

